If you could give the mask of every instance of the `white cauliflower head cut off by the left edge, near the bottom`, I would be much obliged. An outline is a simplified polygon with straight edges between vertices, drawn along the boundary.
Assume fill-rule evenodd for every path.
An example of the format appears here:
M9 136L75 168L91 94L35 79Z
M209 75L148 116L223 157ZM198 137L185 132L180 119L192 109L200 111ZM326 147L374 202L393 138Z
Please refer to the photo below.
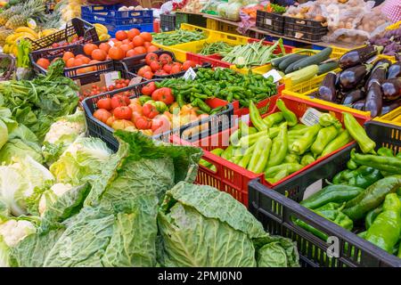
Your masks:
M10 219L0 224L0 237L3 237L9 248L15 247L20 240L35 232L37 232L35 226L26 220Z

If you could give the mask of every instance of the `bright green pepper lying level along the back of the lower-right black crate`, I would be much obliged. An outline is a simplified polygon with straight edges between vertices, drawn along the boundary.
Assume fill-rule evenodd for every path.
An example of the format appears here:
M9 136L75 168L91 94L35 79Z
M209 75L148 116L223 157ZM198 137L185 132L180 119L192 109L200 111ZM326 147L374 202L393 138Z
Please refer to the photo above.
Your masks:
M394 157L381 157L373 154L360 154L351 151L351 159L361 166L373 167L391 174L401 174L401 159Z

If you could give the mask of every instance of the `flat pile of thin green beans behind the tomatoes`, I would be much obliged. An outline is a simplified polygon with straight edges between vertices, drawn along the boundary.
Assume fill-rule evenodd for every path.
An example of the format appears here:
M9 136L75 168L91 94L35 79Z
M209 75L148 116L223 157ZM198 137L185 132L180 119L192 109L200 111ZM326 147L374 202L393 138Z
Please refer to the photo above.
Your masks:
M176 29L173 32L153 35L153 42L159 45L179 45L207 38L202 31Z

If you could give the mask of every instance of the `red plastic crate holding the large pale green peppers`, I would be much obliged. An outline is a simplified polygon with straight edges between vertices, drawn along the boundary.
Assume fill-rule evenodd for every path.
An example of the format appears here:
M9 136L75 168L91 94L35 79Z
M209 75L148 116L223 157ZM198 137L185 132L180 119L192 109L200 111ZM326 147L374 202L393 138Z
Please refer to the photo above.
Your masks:
M340 122L343 123L343 116L342 116L342 110L337 109L337 108L331 108L329 106L324 106L319 103L315 102L307 102L304 101L298 97L293 97L290 95L282 95L280 97L282 101L285 103L288 109L292 110L299 118L303 116L305 111L311 107L316 110L322 110L322 111L329 111L332 115L335 115L336 118L340 119ZM274 104L274 109L266 113L265 115L262 116L262 118L265 118L266 116L273 114L275 112L279 111L278 108ZM352 113L352 112L351 112ZM352 113L358 123L360 125L364 125L366 121L368 121L370 118L364 117L359 114ZM314 163L309 164L306 167L303 167L299 171L288 175L287 177L283 178L282 180L278 181L277 183L271 184L266 182L265 180L265 175L264 174L255 174L250 172L249 170L239 167L236 164L233 164L233 162L230 162L228 160L222 159L218 157L217 155L214 155L213 153L209 152L212 151L216 148L223 148L225 149L228 146L228 140L230 138L230 134L233 134L237 130L238 126L234 126L231 129L226 129L223 132L217 133L217 134L212 134L207 138L203 138L201 140L198 140L196 142L183 142L183 140L180 140L177 137L173 137L173 142L176 143L191 143L194 146L199 146L204 150L204 154L202 156L202 159L205 159L209 161L212 165L214 165L217 168L217 172L214 172L210 170L208 167L203 167L199 166L198 170L198 175L196 178L196 183L199 184L206 184L210 185L213 187L216 187L220 191L225 191L233 196L233 198L237 199L240 201L242 204L244 204L246 207L248 207L248 183L255 179L259 178L260 183L267 185L269 188L276 187L279 184L282 184L286 181L290 181L291 178L299 175L303 171L307 170L310 167L314 167L315 165L319 164L322 162L324 159L327 159L331 157L334 153L337 153L349 145L351 145L354 142L349 142L347 145L344 147L340 148L337 151L331 152L331 154L328 154L327 156L315 160Z

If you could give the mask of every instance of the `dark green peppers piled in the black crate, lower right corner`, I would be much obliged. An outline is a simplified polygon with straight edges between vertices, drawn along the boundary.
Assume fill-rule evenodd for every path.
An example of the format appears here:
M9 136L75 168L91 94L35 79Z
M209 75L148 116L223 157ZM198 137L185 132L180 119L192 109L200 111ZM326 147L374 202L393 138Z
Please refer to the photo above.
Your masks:
M348 168L300 204L401 258L401 152L385 147L376 152L374 142L365 140L364 153L352 150ZM327 240L323 232L294 222Z

